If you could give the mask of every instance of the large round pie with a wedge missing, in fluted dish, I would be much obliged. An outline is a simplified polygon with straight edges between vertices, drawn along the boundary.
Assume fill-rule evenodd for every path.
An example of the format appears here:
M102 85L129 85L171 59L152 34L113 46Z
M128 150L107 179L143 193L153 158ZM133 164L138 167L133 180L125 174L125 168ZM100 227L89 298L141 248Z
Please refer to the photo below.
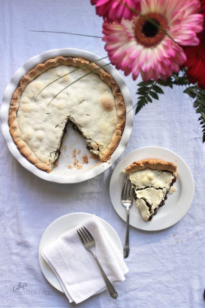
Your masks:
M112 76L96 63L58 56L22 77L11 99L8 124L21 154L50 172L69 121L87 148L106 162L124 129L124 99Z

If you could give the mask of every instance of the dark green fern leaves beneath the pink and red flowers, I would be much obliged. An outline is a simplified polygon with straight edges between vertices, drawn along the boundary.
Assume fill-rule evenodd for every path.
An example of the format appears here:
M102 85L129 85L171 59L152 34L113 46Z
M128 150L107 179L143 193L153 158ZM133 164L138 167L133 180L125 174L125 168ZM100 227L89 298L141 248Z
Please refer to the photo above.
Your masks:
M161 86L170 87L172 89L173 84L177 86L187 86L183 91L194 99L194 108L196 108L196 113L200 113L199 121L202 125L203 132L203 142L205 142L205 90L199 88L198 84L192 85L187 79L187 69L184 68L179 73L173 73L171 77L167 78L167 81L159 78L157 81L148 80L147 82L142 81L138 83L138 90L136 94L140 95L138 97L138 102L135 110L135 114L140 111L148 103L152 103L152 99L159 99L159 94L164 94Z

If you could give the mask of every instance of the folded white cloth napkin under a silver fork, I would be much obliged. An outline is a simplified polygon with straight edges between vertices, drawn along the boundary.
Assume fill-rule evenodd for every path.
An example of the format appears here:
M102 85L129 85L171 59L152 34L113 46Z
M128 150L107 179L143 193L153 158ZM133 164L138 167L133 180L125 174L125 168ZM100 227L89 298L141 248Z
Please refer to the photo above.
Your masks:
M81 243L76 229L85 226L96 241L95 253L111 282L123 281L128 268L122 253L110 238L100 219L93 215L62 234L41 254L56 274L69 302L80 303L106 288L97 263Z

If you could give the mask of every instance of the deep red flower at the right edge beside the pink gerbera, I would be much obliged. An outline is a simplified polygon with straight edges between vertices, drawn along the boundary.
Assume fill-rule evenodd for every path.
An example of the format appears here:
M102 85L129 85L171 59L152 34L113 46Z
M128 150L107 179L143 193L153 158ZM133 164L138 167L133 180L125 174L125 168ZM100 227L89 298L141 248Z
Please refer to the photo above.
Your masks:
M205 0L201 0L201 14L205 18ZM198 46L184 47L184 52L187 56L187 61L184 66L187 69L187 78L191 83L198 83L201 89L205 89L205 24L203 31L197 34L200 40Z

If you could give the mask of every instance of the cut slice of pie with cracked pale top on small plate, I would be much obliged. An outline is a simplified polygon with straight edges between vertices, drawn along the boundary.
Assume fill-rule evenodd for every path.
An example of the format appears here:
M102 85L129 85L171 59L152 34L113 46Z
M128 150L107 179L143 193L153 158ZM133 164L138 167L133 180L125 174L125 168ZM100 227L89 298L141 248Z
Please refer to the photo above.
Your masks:
M124 172L134 190L136 205L144 220L150 221L164 205L176 181L177 166L164 160L135 161Z

